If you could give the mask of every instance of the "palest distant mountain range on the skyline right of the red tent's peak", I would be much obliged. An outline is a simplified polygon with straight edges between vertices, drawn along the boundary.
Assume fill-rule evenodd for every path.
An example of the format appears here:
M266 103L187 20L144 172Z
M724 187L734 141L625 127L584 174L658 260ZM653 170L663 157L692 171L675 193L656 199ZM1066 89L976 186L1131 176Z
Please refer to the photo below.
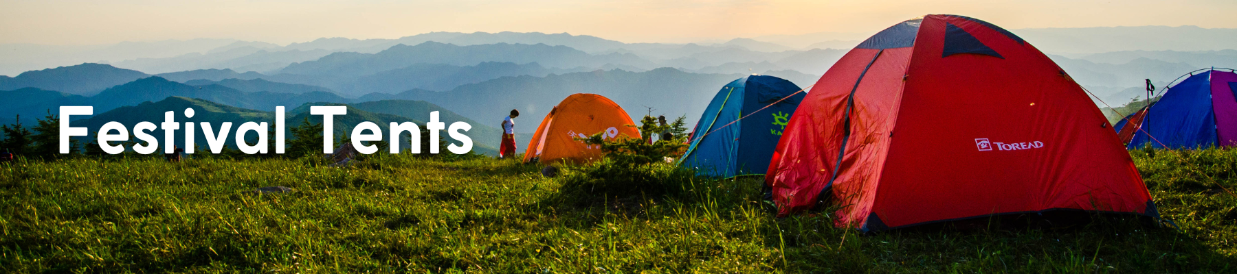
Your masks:
M998 23L999 25L999 23ZM1196 26L1018 28L1011 32L1047 53L1221 51L1237 48L1237 28Z

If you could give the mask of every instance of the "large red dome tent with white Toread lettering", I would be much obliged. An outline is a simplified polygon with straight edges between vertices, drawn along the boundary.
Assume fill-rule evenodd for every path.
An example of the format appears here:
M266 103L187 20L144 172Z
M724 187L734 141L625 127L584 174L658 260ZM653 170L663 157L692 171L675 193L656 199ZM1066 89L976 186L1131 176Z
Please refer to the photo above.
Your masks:
M779 215L840 205L863 231L1054 210L1157 216L1074 79L1018 36L929 15L872 36L799 105L766 180Z

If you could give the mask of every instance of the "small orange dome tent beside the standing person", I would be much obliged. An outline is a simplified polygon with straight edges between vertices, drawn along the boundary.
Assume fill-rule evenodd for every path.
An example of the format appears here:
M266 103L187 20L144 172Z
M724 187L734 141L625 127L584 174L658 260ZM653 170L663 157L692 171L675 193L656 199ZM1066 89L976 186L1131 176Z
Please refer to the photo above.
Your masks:
M532 142L524 151L524 163L575 162L584 163L601 158L601 148L588 146L575 138L585 138L605 132L606 138L627 136L640 138L631 116L618 104L596 94L573 94L558 102L546 115Z

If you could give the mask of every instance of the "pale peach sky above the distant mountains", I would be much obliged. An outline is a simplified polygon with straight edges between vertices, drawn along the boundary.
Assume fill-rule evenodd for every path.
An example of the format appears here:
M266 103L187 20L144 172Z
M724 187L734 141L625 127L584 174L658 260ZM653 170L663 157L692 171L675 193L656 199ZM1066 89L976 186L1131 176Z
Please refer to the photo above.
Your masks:
M398 38L433 31L568 32L622 42L872 33L927 14L1006 28L1237 28L1235 0L0 0L0 43L105 44L236 38Z

